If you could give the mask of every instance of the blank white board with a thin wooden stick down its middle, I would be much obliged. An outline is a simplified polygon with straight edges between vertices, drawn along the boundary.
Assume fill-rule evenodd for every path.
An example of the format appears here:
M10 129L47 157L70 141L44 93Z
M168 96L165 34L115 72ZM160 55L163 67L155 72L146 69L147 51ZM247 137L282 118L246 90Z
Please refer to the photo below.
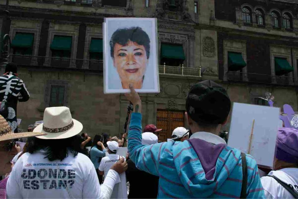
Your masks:
M233 103L228 146L252 155L257 164L271 168L279 114L277 107Z

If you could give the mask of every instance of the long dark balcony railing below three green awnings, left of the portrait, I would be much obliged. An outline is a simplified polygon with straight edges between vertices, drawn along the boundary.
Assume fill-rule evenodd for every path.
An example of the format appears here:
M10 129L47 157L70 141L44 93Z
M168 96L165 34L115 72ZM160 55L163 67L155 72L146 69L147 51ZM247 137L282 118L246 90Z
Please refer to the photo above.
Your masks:
M27 66L51 66L57 68L78 68L97 71L103 70L102 60L54 58L28 55L11 55L10 59L11 62Z

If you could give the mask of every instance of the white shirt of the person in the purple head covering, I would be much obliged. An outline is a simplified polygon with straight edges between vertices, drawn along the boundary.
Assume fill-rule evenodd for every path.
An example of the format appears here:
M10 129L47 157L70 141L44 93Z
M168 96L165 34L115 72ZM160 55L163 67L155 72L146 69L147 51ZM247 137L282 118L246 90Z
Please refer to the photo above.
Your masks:
M298 168L285 168L277 171L271 171L273 175L282 182L290 184L293 190L298 194ZM264 176L261 178L266 198L294 198L290 192L280 185L274 178Z

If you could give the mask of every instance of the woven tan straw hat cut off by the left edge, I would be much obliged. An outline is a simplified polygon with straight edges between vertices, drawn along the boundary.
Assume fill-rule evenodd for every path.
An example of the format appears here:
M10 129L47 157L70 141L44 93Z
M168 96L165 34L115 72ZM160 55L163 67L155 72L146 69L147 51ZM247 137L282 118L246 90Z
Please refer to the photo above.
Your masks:
M0 141L11 140L22 137L33 137L33 136L41 136L46 135L46 133L41 132L22 132L22 133L14 133L11 130L11 127L7 123L6 119L0 115Z

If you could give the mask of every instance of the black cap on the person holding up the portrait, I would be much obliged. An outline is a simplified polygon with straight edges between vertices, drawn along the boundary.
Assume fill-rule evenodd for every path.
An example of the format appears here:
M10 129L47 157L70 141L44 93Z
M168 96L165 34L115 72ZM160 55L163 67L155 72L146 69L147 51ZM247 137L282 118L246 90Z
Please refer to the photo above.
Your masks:
M231 109L227 91L210 80L196 83L186 99L186 110L201 125L224 123Z

